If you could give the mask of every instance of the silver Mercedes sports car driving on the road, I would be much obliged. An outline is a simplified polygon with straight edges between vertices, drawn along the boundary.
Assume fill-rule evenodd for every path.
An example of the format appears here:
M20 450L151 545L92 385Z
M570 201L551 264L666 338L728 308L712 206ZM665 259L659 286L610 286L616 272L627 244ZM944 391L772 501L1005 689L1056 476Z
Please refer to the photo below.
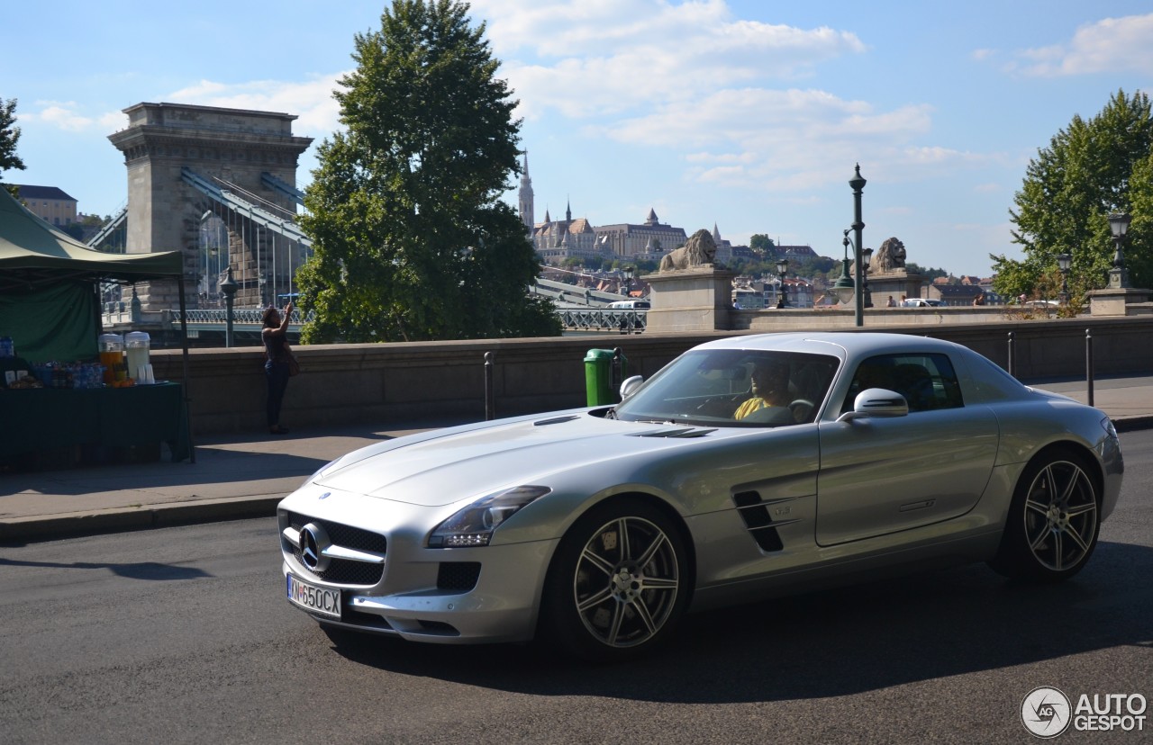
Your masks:
M892 569L1065 579L1124 470L1097 409L920 336L726 339L621 397L325 465L278 509L288 601L327 629L620 659L688 610Z

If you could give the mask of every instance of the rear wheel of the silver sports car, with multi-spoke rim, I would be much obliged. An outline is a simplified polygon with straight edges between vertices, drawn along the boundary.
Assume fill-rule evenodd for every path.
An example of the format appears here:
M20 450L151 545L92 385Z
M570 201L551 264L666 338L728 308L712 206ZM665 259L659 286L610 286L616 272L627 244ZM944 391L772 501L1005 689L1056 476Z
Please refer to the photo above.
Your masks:
M1101 496L1085 457L1052 450L1022 473L989 565L1012 579L1069 579L1088 562L1100 530Z

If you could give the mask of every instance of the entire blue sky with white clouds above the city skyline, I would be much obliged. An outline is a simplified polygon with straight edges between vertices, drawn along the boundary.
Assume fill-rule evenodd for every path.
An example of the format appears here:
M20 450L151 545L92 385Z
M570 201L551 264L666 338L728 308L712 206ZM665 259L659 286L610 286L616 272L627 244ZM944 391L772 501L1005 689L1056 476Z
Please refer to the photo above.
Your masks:
M391 2L387 3L391 7ZM9 3L0 98L18 99L7 182L82 212L127 197L107 137L169 101L286 112L319 143L336 81L383 0ZM955 274L1018 257L1009 210L1031 158L1118 89L1153 86L1153 12L1125 0L476 0L523 117L536 220L648 210L692 233L763 233L839 258L860 164L865 244ZM297 182L311 180L315 145ZM515 204L515 193L510 192Z

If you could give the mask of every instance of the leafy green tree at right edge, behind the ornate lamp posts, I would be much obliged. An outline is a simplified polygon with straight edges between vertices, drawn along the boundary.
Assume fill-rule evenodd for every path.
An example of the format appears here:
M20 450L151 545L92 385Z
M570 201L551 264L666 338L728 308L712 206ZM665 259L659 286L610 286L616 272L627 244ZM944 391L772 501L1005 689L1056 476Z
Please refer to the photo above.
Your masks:
M1117 91L1093 119L1073 116L1028 164L1009 213L1013 243L1025 258L989 256L996 290L1033 296L1042 278L1056 269L1057 254L1065 252L1073 258L1071 281L1086 289L1102 287L1114 254L1107 220L1113 211L1133 214L1125 252L1132 283L1153 284L1151 155L1153 116L1145 93Z

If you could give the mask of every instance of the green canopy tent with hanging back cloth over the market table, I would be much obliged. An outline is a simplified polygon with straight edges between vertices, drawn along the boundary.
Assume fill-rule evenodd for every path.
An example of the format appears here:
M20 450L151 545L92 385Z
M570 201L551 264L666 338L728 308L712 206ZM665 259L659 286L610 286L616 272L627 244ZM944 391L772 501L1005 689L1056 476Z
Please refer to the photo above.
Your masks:
M180 289L187 406L188 334L181 252L96 251L50 226L0 187L0 336L12 337L17 356L31 363L95 358L100 333L100 283L163 279L176 280Z

